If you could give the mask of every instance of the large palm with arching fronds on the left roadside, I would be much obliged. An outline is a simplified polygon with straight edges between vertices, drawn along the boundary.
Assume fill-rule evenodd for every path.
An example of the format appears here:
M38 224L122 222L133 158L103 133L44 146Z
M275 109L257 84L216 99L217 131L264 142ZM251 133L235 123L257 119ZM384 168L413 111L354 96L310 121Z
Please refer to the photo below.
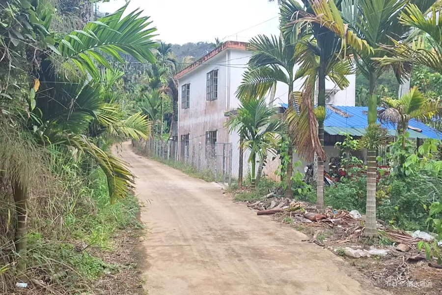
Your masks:
M87 24L83 30L71 32L57 44L48 43L48 50L38 52L40 56L34 58L41 59L41 67L33 74L39 80L34 80L34 87L29 91L30 112L22 116L28 120L25 123L29 130L34 130L32 134L38 137L35 141L39 145L76 147L93 158L107 177L111 203L130 193L135 176L124 162L98 148L85 135L88 125L96 120L114 136L140 138L147 136L149 122L140 114L125 119L118 115L119 109L100 95L102 85L97 82L100 71L96 65L111 68L104 54L122 61L121 53L130 54L139 61L155 62L151 49L157 44L152 39L155 28L149 28L148 17L139 17L140 11L123 17L126 7ZM45 10L50 12L51 9L45 6ZM35 25L39 28L37 34L47 33L50 18ZM27 227L20 216L26 216L27 191L32 183L16 175L18 167L8 166L12 171L6 174L14 176L13 196L19 216L15 243L21 257L17 269L21 272L19 279L25 280Z

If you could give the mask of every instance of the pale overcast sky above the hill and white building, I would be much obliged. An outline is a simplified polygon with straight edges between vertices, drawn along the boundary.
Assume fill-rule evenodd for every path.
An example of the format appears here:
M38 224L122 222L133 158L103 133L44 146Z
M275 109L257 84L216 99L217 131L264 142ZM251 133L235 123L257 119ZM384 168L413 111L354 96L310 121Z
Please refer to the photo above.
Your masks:
M98 3L101 12L114 12L124 0ZM132 0L128 10L144 10L164 42L248 41L257 34L278 34L278 5L268 0Z

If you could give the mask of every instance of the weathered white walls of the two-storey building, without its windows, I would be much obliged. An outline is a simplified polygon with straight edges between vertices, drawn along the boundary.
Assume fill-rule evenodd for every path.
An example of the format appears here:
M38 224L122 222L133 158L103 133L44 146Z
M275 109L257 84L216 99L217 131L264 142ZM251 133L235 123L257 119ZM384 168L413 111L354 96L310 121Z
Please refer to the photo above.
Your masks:
M233 145L233 177L238 176L239 135L237 132L229 134L225 127L225 122L228 118L224 117L224 113L239 107L239 100L235 92L241 84L243 73L246 70L251 55L252 52L250 51L227 49L212 59L209 59L205 64L197 66L193 71L179 79L178 141L180 141L181 135L189 133L193 144L201 143L204 147L206 131L217 129L217 142L232 143ZM206 101L206 75L214 69L218 69L218 99ZM349 79L350 86L347 89L336 92L333 101L334 105L355 105L356 76L349 75L347 78ZM190 107L188 109L182 109L181 86L187 83L191 84ZM295 81L294 90L301 91L303 83L304 80L301 79ZM336 89L336 87L331 81L326 81L326 89ZM269 103L270 94L267 100ZM280 103L288 103L288 86L278 82L273 106L279 106ZM336 153L334 147L326 147L326 152L329 154L329 157ZM250 164L247 162L249 151L245 150L244 156L243 175L246 176L248 170L251 170ZM269 154L268 164L264 171L267 175L277 178L274 175L274 170L278 167L279 160L276 159L274 163L272 163L272 157L273 155ZM298 155L295 154L294 162L298 161L298 159ZM306 164L305 161L302 161L302 165L295 169L304 172ZM258 165L256 165L256 169L257 168ZM327 169L328 166L326 166L326 170Z

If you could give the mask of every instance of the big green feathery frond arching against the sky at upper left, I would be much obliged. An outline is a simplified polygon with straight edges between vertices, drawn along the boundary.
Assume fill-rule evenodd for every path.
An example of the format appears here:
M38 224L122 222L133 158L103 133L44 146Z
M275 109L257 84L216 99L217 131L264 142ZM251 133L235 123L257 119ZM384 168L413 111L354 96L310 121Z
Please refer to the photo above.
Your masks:
M152 38L156 28L149 28L149 17L140 17L142 11L132 11L123 17L127 5L115 13L102 17L74 30L61 39L55 51L62 61L72 61L82 72L98 76L95 63L111 68L103 54L123 61L120 53L129 54L139 61L155 62L152 49L158 42Z

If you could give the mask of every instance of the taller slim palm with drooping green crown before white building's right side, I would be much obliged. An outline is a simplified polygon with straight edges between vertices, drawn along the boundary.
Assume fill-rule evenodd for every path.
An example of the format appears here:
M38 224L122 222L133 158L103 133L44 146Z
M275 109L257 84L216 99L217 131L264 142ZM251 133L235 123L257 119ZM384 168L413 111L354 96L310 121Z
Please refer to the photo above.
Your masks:
M248 69L243 74L243 81L236 93L240 99L249 97L265 97L268 92L276 87L277 82L288 86L289 106L295 105L293 96L293 82L295 77L295 64L297 58L296 44L291 42L289 36L279 38L258 35L249 42L249 50L253 51L249 59ZM293 172L293 147L288 148L289 163L287 166L287 187L285 196L291 198L291 178Z

